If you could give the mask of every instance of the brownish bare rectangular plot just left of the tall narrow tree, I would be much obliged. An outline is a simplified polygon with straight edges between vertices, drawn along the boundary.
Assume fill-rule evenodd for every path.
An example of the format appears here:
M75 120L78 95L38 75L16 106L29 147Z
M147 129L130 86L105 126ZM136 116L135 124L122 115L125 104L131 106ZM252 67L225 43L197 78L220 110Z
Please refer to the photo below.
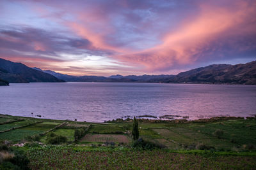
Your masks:
M122 134L86 134L80 141L129 143L131 139Z

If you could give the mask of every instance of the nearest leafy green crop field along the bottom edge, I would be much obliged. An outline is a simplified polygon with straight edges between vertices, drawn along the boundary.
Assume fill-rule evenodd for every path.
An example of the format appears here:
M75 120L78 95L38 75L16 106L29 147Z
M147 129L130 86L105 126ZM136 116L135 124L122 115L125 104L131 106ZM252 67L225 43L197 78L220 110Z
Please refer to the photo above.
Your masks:
M196 153L193 151L193 153ZM166 150L135 151L74 146L26 151L31 169L254 169L255 156L216 155Z

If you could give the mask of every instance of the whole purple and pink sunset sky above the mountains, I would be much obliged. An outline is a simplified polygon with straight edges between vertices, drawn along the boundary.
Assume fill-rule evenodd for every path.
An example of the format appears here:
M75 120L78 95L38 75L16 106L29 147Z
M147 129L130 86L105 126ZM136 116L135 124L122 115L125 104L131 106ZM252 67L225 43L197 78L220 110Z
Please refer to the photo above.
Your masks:
M255 0L1 0L0 58L76 76L246 63L255 16Z

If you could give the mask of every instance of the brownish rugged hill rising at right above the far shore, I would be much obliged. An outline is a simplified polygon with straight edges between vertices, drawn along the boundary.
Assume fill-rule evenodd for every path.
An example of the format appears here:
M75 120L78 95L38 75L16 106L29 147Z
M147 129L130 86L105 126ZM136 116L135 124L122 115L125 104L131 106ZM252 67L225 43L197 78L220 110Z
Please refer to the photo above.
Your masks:
M246 64L213 64L207 67L191 69L170 78L155 79L163 83L227 83L256 84L256 61Z

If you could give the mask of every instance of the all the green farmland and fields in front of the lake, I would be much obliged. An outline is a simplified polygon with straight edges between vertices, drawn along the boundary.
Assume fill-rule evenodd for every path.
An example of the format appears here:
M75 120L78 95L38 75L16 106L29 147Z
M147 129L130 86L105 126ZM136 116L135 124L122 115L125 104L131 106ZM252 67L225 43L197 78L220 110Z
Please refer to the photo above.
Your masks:
M0 115L0 122L0 140L10 153L6 159L6 150L0 149L1 167L12 163L17 151L24 152L31 169L256 167L255 117L139 119L140 137L136 141L130 120L94 124Z

